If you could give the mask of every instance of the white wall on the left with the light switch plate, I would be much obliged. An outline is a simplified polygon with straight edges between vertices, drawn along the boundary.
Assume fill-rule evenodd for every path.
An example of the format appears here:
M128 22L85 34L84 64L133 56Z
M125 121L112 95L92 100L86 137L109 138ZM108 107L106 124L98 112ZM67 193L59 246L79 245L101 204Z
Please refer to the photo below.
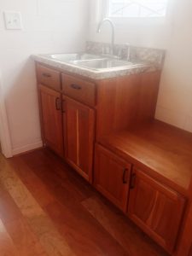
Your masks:
M0 0L0 71L14 154L41 145L36 53L84 49L89 0ZM7 31L3 11L20 11L23 31Z

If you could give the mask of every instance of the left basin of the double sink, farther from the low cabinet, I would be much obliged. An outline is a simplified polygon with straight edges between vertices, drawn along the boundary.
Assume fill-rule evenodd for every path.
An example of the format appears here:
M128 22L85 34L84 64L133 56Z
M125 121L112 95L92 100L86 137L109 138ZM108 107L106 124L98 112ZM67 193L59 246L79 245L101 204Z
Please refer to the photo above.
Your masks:
M55 61L71 62L71 61L83 61L83 60L100 59L101 56L90 55L90 54L86 54L86 53L77 53L77 54L49 55L49 58L51 58Z

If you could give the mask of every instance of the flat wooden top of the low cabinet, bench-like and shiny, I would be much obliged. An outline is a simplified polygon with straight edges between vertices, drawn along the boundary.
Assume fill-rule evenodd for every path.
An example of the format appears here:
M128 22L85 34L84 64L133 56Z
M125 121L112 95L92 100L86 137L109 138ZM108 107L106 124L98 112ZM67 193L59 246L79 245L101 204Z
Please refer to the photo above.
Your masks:
M152 177L188 195L192 177L192 135L154 120L102 137L103 146Z

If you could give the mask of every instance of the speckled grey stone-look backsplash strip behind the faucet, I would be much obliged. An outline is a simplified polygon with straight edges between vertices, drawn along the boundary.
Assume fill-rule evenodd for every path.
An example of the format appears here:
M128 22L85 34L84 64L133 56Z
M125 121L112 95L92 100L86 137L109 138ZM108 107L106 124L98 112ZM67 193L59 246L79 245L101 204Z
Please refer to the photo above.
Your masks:
M99 42L86 42L86 52L94 54L109 54L111 44ZM114 55L123 60L127 60L128 49L130 48L129 61L145 61L158 67L162 67L165 59L166 50L136 47L130 44L114 44Z

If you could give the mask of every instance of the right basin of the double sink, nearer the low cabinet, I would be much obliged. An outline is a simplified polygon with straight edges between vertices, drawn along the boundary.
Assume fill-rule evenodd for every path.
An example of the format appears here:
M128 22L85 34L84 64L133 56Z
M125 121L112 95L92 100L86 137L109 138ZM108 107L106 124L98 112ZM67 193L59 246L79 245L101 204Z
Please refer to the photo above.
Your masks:
M73 64L79 67L85 67L95 70L100 69L109 69L109 68L116 68L116 67L129 67L132 66L133 63L129 61L121 61L115 59L97 59L97 60L90 60L90 61L73 61Z

